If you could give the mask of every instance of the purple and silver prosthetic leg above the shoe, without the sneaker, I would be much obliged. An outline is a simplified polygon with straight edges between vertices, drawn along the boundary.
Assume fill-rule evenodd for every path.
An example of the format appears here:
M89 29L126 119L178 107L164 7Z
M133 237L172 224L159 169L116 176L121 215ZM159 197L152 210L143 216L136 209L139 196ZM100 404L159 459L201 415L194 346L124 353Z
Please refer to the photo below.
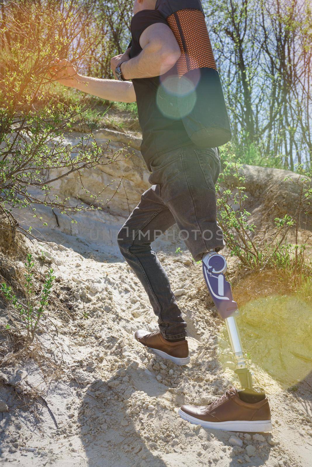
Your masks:
M202 262L203 274L208 290L227 326L227 333L236 361L234 373L238 375L242 388L252 389L251 373L247 368L241 345L241 337L236 323L239 311L237 303L233 300L231 286L224 276L227 270L226 259L215 251L209 251L203 255Z

